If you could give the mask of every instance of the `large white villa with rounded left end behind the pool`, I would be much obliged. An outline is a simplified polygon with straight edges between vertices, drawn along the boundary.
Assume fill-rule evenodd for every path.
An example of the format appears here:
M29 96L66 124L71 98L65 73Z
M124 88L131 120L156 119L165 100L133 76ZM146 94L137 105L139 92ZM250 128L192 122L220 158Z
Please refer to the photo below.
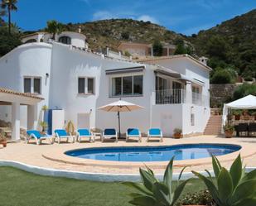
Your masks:
M76 128L118 129L117 114L98 108L122 98L144 107L121 113L123 133L128 127L144 133L160 127L164 137L171 137L176 127L185 136L204 132L210 117L211 70L205 60L171 55L134 62L90 52L85 39L65 31L51 41L49 34L38 32L2 56L0 87L43 99L30 107L18 98L5 104L0 95L0 119L15 121L16 128L38 127L41 108L47 105L50 130L68 121ZM19 132L12 138L19 139Z

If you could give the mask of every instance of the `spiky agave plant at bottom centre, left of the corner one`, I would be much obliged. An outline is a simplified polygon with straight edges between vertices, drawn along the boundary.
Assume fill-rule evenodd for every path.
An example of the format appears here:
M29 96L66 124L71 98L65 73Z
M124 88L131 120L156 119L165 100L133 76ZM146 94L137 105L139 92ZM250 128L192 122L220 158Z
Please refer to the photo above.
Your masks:
M177 180L176 188L172 187L172 165L174 157L170 160L165 170L163 181L157 180L153 171L147 167L147 170L140 169L142 183L125 182L123 184L137 189L137 193L130 194L133 199L129 202L138 206L172 206L179 199L186 183L185 180L180 183L182 172Z

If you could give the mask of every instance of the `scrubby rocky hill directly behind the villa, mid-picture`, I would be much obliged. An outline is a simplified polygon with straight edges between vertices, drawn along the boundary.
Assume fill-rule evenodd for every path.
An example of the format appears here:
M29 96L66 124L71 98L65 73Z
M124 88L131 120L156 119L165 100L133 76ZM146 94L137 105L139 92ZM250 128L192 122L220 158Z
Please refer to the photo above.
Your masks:
M175 41L183 38L163 26L132 19L110 19L79 24L69 23L65 25L65 29L77 31L78 26L81 26L82 33L87 36L89 46L93 50L106 46L116 50L120 41L152 43L154 40L160 40L174 44Z

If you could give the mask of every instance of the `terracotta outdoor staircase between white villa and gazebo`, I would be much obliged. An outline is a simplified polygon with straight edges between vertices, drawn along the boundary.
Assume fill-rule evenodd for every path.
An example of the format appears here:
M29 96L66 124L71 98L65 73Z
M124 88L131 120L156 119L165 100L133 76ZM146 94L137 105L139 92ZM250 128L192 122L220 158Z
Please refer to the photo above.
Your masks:
M204 135L220 135L222 115L211 114L205 127Z

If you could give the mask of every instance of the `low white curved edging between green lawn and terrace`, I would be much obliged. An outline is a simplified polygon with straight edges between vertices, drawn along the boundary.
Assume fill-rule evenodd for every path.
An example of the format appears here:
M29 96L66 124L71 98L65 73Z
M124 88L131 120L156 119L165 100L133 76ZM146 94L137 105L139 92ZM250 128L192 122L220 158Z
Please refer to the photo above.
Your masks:
M19 161L13 160L0 160L0 166L12 166L20 170L25 170L27 172L34 173L36 175L44 175L44 176L54 176L54 177L65 177L72 178L77 180L90 180L90 181L100 181L100 182L124 182L124 181L132 181L132 182L140 182L141 178L138 174L109 174L109 173L90 173L90 172L82 172L82 171L70 171L70 170L57 170L52 168L45 168L35 165L28 165ZM246 172L255 170L256 167L246 167ZM205 171L199 172L201 175L207 175L208 173ZM210 174L214 175L213 170L210 170ZM178 180L179 173L173 173L172 180ZM163 174L156 175L158 180L163 179ZM192 172L184 172L181 176L181 180L187 180L189 178L196 178L196 176Z

